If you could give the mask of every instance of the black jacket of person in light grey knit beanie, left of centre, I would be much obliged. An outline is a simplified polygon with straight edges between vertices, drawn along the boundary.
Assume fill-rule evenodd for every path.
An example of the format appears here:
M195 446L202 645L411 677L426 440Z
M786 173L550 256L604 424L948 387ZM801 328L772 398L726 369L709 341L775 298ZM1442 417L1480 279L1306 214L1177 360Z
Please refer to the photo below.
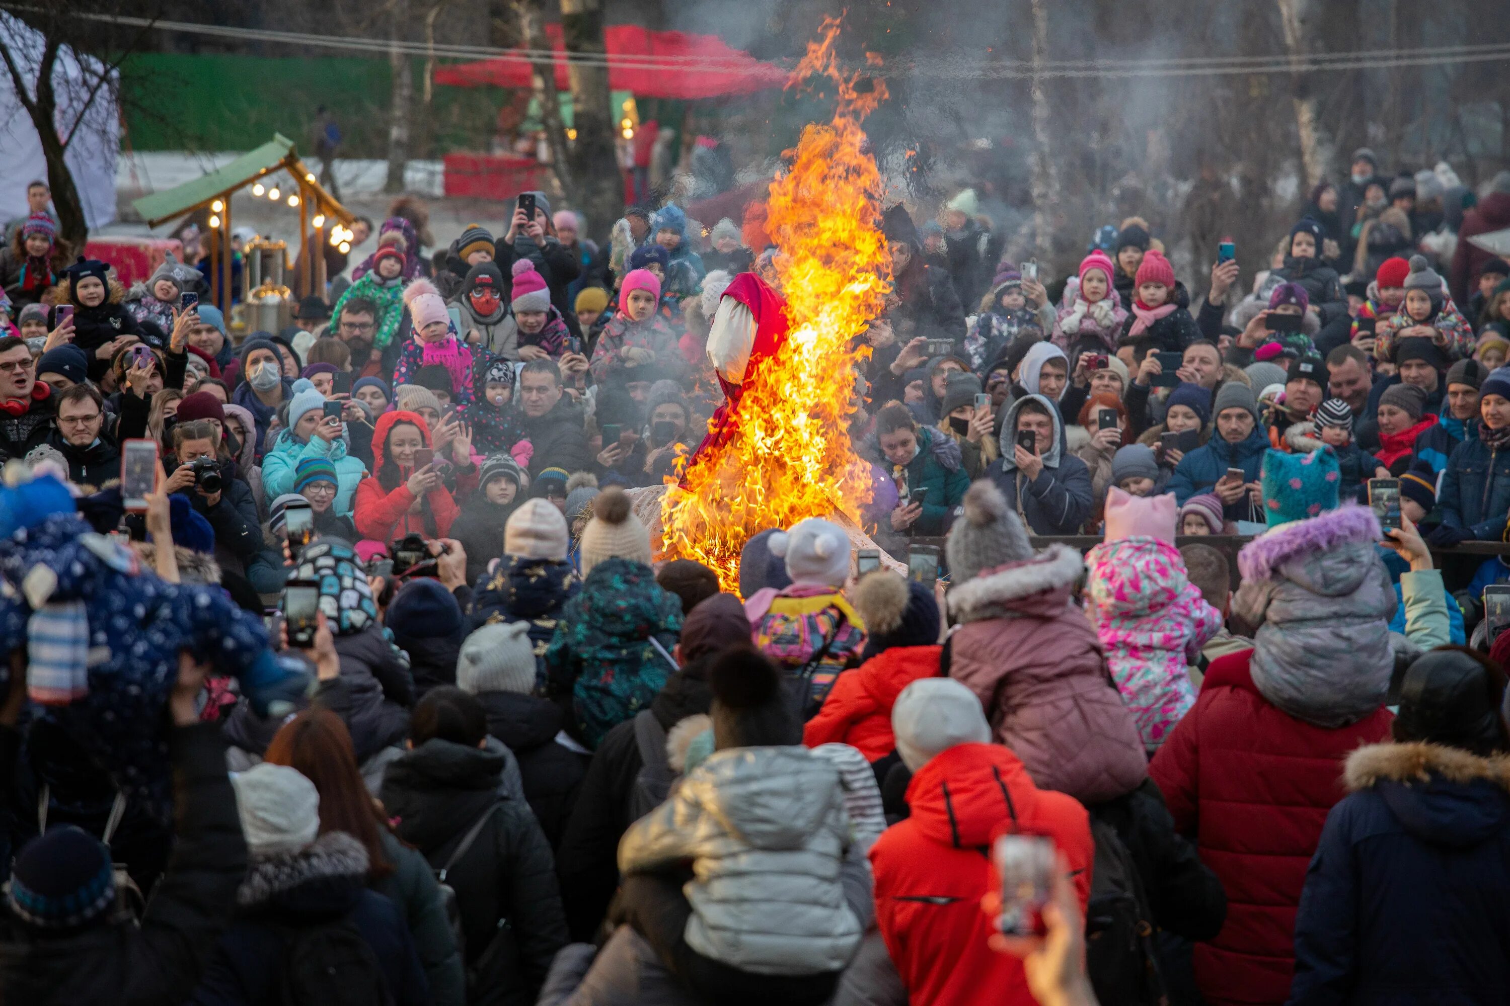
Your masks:
M503 741L519 760L524 798L547 842L557 848L587 774L587 756L556 744L566 713L548 698L515 692L483 692L477 700L488 710L488 733Z

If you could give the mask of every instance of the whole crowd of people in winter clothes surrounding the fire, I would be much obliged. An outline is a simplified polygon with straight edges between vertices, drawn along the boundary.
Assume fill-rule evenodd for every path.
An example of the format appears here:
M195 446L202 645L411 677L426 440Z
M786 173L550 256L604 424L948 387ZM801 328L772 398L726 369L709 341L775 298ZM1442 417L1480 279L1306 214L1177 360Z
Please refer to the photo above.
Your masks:
M1510 264L1466 240L1510 172L1475 201L1357 151L1252 278L1226 240L1181 279L1136 217L1052 278L972 190L888 208L847 431L880 569L811 517L750 538L738 593L657 561L636 490L723 403L731 284L779 293L750 220L634 207L598 244L532 192L426 253L406 199L285 330L239 332L193 265L127 288L29 199L0 252L0 995L1510 988L1510 555L1456 547L1510 540ZM242 635L118 635L121 576L267 614L310 686ZM279 614L304 587L311 626ZM1003 836L1055 846L1025 937Z

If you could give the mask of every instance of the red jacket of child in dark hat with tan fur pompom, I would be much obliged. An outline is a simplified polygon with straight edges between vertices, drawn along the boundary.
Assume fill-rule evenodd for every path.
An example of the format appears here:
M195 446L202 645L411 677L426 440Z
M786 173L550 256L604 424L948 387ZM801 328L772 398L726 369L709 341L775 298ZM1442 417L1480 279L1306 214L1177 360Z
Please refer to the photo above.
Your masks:
M823 700L818 715L802 728L809 748L838 741L879 762L897 748L891 707L901 689L920 677L938 677L941 646L897 646L844 671Z

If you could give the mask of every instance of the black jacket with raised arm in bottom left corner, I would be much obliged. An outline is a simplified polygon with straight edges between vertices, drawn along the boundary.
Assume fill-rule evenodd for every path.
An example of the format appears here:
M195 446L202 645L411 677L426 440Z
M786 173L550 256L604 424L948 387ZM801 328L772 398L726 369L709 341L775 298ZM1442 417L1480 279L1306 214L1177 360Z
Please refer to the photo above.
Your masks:
M181 1003L236 905L246 843L214 724L169 735L177 834L140 928L106 923L33 940L11 923L0 941L0 998L29 1006Z

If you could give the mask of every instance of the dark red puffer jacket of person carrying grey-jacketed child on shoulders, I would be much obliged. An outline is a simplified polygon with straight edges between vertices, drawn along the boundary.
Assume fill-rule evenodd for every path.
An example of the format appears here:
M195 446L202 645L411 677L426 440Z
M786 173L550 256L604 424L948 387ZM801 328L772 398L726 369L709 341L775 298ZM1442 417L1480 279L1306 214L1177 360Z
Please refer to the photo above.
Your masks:
M1206 668L1194 707L1149 775L1226 888L1226 925L1197 943L1196 985L1211 1006L1284 1003L1294 973L1296 908L1327 811L1347 790L1342 762L1389 736L1383 707L1327 730L1279 712L1253 685L1252 650Z

